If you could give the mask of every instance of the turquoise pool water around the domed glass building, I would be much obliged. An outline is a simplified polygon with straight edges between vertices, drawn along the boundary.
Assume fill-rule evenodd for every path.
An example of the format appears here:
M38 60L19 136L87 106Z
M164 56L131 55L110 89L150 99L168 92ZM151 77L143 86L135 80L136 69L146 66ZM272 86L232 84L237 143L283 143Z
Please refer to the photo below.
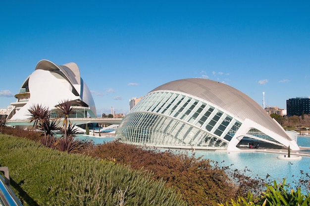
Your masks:
M91 135L79 135L78 138L93 140L96 144L102 144L114 140L113 137L95 137ZM298 137L298 146L310 147L310 137ZM310 172L310 157L303 156L300 160L278 159L279 154L260 152L215 152L215 151L195 151L196 157L203 157L217 161L220 166L229 166L231 169L245 170L248 176L265 178L270 175L270 180L282 182L283 178L287 183L298 181L300 171ZM294 175L294 177L292 177Z

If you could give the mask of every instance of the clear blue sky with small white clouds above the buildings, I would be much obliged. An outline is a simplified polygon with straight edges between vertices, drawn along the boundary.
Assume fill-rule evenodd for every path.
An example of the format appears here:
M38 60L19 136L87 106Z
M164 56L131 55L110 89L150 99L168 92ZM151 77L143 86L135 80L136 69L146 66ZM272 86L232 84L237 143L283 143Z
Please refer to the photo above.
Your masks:
M2 1L0 108L38 61L75 62L97 113L207 78L262 105L310 96L310 1Z

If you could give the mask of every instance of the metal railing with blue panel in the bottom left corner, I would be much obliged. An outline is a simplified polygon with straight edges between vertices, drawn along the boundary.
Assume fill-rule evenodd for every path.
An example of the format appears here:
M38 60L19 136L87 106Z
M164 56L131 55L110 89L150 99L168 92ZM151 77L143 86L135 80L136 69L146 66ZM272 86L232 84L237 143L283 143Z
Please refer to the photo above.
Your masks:
M0 175L0 205L3 206L22 206L16 195L10 188L10 176L8 167L0 167L0 171L4 172L4 178Z

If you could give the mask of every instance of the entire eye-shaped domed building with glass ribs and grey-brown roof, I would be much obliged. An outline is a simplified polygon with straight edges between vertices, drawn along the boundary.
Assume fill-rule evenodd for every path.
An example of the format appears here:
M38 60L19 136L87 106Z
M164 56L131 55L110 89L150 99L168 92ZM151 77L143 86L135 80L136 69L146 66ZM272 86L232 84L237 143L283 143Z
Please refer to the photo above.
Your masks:
M286 132L242 92L207 79L181 79L149 92L123 118L115 138L160 148L239 150L243 138L299 150Z

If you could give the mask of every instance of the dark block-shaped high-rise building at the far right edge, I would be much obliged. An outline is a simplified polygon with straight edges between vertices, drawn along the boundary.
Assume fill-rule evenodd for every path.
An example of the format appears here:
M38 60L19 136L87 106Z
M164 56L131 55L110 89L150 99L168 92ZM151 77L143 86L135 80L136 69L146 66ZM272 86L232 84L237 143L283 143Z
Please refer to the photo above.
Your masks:
M297 97L288 99L286 101L286 109L288 116L301 116L303 112L304 114L310 114L310 98Z

